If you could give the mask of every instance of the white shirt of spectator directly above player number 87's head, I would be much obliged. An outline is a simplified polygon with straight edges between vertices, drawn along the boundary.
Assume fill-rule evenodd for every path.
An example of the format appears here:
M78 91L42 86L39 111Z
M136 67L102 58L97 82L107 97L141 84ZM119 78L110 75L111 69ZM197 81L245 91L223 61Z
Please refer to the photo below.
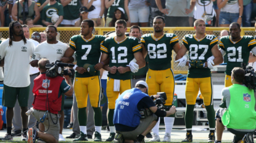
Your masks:
M194 18L196 20L198 19L204 19L202 17L202 15L204 14L204 12L206 12L206 14L212 14L216 15L215 10L213 9L213 2L212 1L204 1L204 3L202 3L203 1L196 1L196 6L194 9ZM205 7L205 11L204 11L204 7Z

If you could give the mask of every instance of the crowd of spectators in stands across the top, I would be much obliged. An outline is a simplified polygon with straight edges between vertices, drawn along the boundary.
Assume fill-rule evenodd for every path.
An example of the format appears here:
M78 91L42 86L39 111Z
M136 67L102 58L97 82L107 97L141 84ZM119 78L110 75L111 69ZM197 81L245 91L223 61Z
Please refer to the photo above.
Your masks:
M91 19L97 27L114 27L126 20L127 26L152 26L152 19L164 16L166 26L193 26L204 19L207 26L228 27L237 22L250 27L255 0L0 0L0 21L38 26L80 26ZM23 6L24 4L24 6ZM24 7L24 9L23 9ZM25 19L24 19L25 18Z

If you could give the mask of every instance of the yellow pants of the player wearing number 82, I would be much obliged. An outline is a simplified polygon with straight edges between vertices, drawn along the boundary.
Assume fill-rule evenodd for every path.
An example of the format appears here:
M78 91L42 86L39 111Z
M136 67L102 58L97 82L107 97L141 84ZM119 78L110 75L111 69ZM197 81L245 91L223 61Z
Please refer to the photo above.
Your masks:
M156 95L157 92L165 92L167 95L165 105L172 105L175 83L173 71L171 69L165 69L162 71L154 71L152 69L149 69L149 71L147 71L146 82L149 86L149 96Z

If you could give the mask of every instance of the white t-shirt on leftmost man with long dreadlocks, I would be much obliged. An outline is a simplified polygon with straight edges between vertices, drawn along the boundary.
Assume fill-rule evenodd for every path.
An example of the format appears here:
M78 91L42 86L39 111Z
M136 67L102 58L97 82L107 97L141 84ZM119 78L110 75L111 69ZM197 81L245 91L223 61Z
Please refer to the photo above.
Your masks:
M35 45L27 40L12 41L9 39L0 45L0 60L4 58L4 84L9 87L28 87L30 85L30 57L33 55Z

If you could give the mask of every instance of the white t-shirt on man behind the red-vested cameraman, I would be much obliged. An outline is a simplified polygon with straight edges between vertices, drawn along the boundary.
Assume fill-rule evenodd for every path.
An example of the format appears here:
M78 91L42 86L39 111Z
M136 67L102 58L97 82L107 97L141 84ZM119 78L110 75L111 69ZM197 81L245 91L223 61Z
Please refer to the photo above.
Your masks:
M50 63L52 63L55 60L60 60L60 58L64 56L67 48L68 45L60 41L58 41L57 44L48 44L47 41L44 41L36 47L31 60L47 58L49 59Z

